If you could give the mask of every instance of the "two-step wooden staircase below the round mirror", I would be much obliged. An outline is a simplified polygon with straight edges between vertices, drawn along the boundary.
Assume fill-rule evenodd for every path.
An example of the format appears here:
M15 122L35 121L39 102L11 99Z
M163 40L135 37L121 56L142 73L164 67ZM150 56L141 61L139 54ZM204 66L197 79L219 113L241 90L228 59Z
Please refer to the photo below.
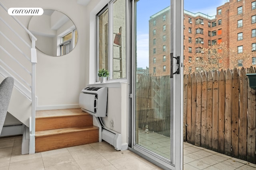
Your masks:
M36 111L35 152L99 141L92 115L81 109Z

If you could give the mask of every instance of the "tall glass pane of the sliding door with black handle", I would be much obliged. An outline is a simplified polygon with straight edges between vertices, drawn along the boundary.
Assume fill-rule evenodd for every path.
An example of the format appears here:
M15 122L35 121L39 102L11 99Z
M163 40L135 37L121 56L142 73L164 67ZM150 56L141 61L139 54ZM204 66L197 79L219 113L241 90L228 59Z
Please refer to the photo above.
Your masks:
M135 143L170 160L171 86L166 56L170 56L170 0L137 1Z

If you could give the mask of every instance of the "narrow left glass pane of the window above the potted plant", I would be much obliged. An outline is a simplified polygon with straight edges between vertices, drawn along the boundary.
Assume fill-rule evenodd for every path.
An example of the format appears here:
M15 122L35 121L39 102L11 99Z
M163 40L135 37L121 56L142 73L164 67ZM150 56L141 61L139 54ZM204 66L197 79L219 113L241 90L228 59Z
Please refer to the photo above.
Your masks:
M98 16L99 69L108 70L108 9Z

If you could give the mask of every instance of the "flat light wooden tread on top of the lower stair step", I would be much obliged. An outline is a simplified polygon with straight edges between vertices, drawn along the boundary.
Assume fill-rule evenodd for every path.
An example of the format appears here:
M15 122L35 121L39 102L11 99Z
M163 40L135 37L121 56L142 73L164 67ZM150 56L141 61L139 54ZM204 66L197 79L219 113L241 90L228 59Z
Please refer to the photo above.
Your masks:
M35 137L45 137L45 136L52 136L52 135L59 135L59 134L65 134L65 133L72 133L72 132L79 132L79 131L90 131L99 129L96 126L84 126L84 127L69 127L69 128L63 128L63 129L51 129L46 131L36 131Z

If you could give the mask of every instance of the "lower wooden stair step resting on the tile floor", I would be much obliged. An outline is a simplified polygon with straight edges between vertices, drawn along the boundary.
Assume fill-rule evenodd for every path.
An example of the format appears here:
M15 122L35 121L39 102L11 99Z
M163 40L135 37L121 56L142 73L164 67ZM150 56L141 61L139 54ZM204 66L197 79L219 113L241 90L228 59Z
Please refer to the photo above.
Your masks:
M85 145L99 141L99 128L93 125L36 131L36 152Z

